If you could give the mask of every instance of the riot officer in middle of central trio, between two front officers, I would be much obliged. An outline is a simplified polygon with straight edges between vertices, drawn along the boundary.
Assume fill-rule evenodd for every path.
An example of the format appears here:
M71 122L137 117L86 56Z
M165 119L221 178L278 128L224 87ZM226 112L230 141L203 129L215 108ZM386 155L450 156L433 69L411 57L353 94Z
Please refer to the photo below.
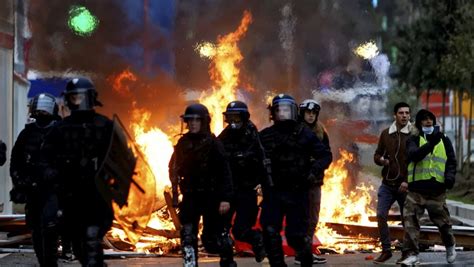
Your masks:
M255 260L265 257L263 236L253 230L258 215L256 189L260 185L262 147L255 125L250 121L247 105L232 101L223 113L227 127L219 135L229 158L234 185L231 217L235 213L232 234L239 241L252 245Z

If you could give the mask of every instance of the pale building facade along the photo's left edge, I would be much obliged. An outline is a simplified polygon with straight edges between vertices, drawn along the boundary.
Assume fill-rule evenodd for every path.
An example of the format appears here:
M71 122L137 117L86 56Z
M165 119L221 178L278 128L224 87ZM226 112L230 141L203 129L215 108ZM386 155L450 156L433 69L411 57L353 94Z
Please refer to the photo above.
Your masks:
M9 154L27 116L29 82L25 78L24 60L27 3L28 1L0 1L0 139L8 148L7 162L0 167L0 214L14 213L9 196Z

